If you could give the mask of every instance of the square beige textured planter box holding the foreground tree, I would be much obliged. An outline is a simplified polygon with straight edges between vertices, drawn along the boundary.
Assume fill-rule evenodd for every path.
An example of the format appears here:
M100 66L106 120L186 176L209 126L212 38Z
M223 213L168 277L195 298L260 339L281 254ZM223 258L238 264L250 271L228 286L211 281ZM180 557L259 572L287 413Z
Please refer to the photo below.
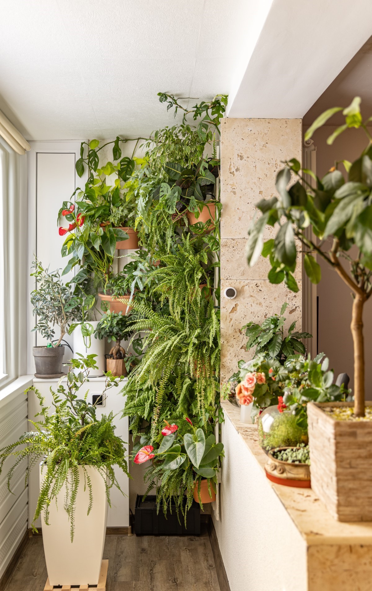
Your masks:
M326 407L352 403L308 404L311 488L338 521L372 521L372 421L338 421Z

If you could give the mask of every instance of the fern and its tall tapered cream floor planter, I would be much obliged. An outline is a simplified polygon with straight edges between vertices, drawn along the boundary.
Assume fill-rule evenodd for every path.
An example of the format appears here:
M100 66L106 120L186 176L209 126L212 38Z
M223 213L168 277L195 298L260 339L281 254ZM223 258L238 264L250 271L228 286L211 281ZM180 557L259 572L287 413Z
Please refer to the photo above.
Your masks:
M35 520L43 518L43 544L49 584L98 584L105 542L110 489L119 484L114 466L128 475L125 444L115 435L114 415L96 417L96 408L79 389L95 367L94 355L70 361L66 387L60 381L51 394L53 410L34 387L40 412L30 421L34 430L0 450L0 473L9 456L15 462L8 472L8 486L16 480L24 458L40 461L40 495ZM119 379L106 377L106 389ZM124 493L123 493L124 494Z

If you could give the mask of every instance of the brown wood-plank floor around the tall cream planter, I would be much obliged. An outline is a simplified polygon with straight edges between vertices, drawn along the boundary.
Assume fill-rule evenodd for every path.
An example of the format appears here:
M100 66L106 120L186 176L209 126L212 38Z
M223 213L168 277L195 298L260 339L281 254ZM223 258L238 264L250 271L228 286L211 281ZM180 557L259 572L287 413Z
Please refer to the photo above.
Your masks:
M106 536L107 591L220 591L208 531L200 536ZM42 591L43 538L30 538L6 591Z

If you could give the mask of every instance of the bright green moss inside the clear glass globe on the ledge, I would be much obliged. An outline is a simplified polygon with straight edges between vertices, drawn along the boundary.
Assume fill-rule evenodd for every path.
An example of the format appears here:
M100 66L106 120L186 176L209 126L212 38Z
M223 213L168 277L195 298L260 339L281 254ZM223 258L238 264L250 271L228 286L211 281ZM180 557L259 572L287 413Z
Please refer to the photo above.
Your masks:
M269 451L274 447L294 447L308 443L308 431L299 427L297 417L291 413L283 413L274 418L269 433L265 433L261 421L258 421L258 437L263 449Z

